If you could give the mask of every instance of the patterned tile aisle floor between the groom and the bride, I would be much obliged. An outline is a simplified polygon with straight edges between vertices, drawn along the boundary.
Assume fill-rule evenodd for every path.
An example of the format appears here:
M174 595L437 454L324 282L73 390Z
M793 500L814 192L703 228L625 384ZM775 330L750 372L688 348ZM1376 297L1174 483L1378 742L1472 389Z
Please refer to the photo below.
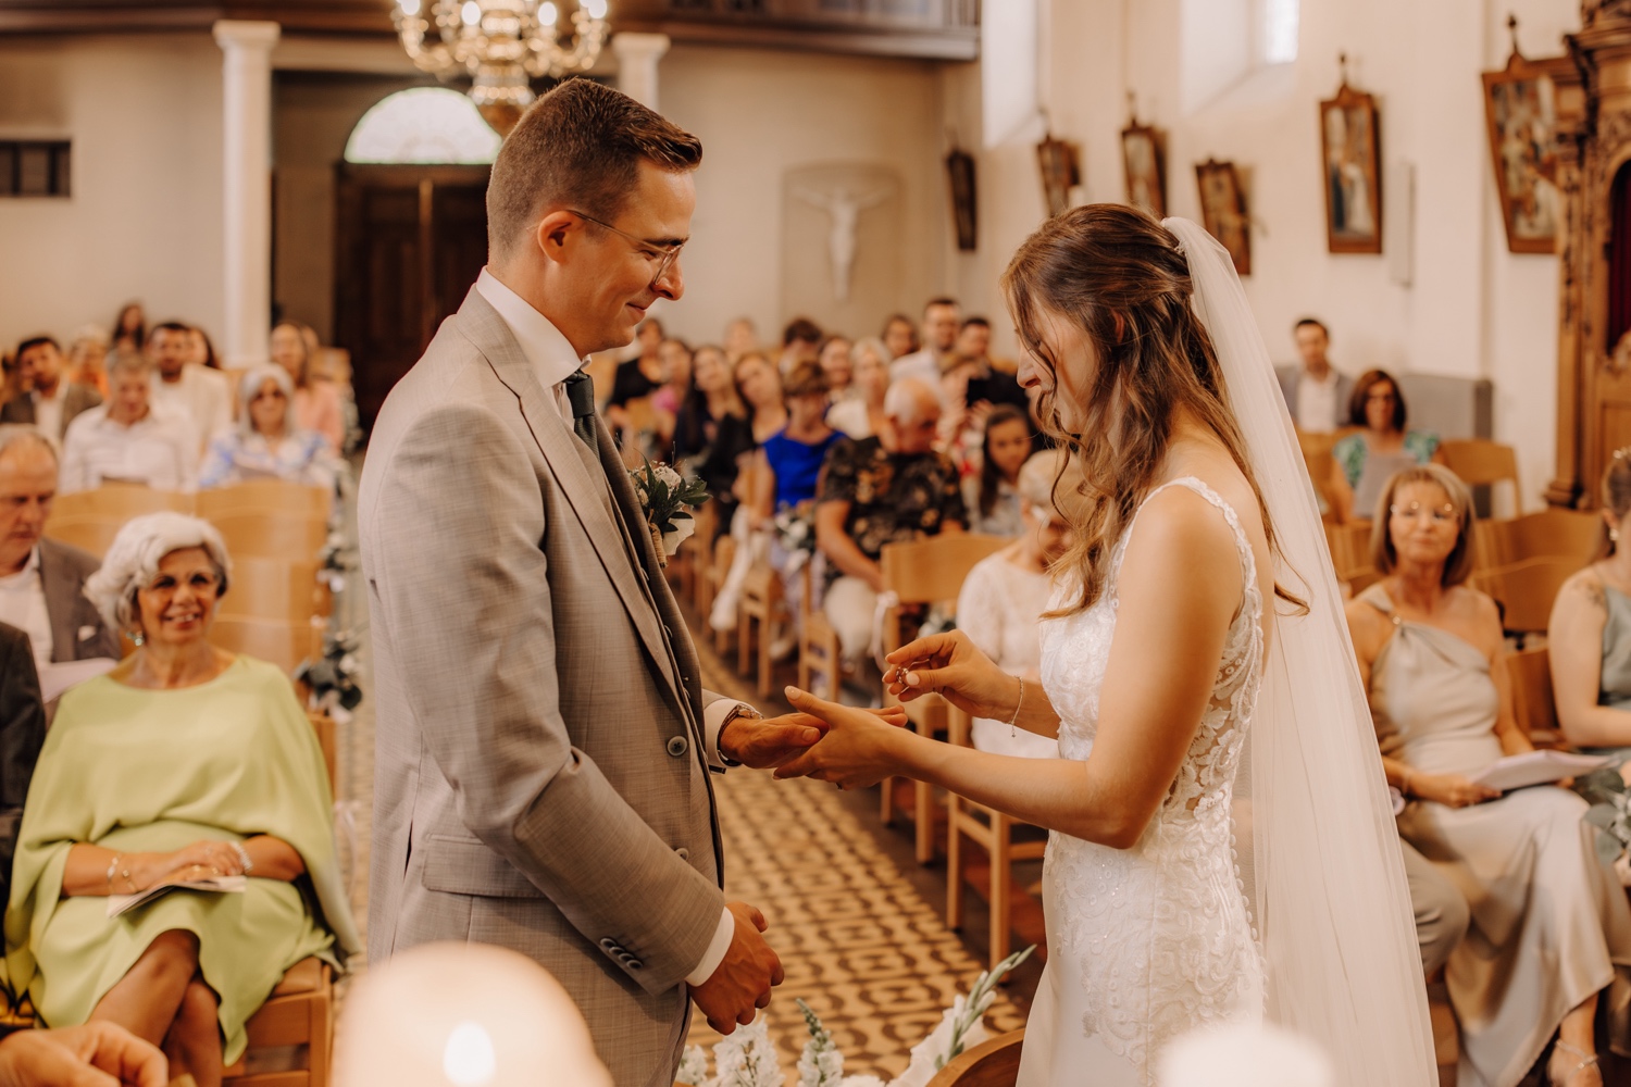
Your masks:
M734 673L703 652L705 684L747 698ZM957 934L902 878L871 831L832 786L775 781L732 769L714 777L724 836L726 895L758 906L788 979L768 1009L781 1067L809 1040L794 997L822 1017L845 1054L845 1074L889 1079L905 1071L913 1045L980 973ZM998 992L987 1014L993 1033L1018 1030L1024 1015ZM718 1035L693 1017L692 1043L713 1051Z

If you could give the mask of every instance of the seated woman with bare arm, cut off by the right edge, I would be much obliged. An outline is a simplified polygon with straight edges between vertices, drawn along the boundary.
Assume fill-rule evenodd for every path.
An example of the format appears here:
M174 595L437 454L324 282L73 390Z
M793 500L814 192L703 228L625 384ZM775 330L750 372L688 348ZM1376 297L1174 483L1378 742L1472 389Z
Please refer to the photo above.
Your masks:
M1558 590L1546 626L1564 738L1631 772L1631 448L1603 471L1603 556Z

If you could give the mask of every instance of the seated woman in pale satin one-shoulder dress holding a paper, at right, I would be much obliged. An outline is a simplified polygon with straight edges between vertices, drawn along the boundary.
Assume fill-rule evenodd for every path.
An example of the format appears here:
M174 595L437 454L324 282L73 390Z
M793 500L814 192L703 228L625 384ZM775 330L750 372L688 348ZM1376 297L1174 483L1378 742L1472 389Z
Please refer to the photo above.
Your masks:
M1471 904L1445 975L1461 1082L1517 1084L1558 1032L1551 1082L1602 1084L1593 1019L1616 966L1631 965L1624 891L1597 859L1585 800L1556 786L1502 795L1474 781L1533 745L1512 714L1501 614L1465 583L1466 486L1437 464L1408 468L1380 508L1372 557L1383 579L1347 619L1383 769L1408 800L1399 833Z

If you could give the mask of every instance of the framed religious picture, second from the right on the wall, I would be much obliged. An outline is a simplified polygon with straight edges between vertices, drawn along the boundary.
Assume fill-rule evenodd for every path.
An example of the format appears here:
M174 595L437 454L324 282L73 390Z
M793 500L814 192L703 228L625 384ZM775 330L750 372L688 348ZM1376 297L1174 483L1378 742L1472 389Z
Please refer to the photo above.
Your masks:
M1319 103L1321 174L1326 191L1326 248L1381 253L1381 135L1377 99L1347 85Z

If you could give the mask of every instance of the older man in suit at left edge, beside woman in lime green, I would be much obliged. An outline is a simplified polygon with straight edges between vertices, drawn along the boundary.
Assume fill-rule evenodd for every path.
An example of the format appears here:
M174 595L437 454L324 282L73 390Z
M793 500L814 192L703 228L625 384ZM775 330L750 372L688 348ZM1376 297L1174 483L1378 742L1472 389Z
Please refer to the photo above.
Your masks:
M33 427L0 427L0 623L28 634L34 665L119 657L119 637L85 598L101 562L46 538L57 451Z

